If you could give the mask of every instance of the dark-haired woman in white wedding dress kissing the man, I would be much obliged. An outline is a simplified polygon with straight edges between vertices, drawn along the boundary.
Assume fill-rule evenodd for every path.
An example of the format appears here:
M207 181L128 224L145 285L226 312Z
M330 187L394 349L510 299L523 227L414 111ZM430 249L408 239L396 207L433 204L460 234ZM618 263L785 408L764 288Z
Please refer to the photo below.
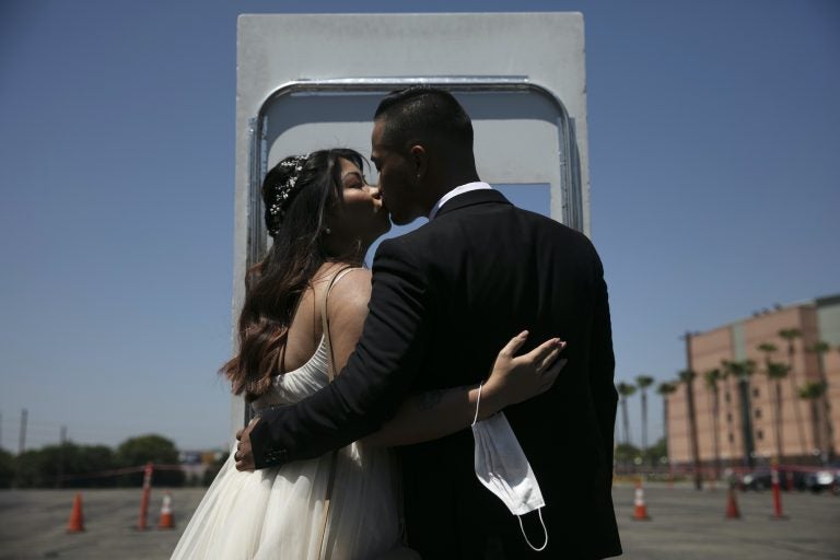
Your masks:
M246 276L240 351L221 370L256 416L327 385L361 336L371 293L362 260L390 228L363 165L352 150L322 150L285 158L262 184L273 244ZM418 558L400 545L399 476L387 446L467 428L477 397L483 419L547 390L559 369L546 369L563 343L514 358L526 337L500 352L483 387L412 395L380 432L337 452L255 472L237 471L232 453L172 558Z

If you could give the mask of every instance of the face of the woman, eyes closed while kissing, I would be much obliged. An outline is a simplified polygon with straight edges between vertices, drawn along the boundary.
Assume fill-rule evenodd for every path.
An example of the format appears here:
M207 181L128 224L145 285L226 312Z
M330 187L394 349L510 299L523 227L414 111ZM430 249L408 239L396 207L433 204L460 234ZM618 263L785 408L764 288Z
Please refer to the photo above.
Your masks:
M340 159L343 203L328 220L332 235L362 240L366 245L390 230L388 212L382 206L380 190L368 184L362 170Z

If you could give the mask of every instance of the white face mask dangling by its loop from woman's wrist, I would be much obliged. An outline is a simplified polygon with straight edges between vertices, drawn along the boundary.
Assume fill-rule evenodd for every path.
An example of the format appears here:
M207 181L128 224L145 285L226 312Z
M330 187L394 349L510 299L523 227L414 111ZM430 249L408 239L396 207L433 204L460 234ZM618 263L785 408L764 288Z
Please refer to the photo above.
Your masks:
M476 475L488 490L504 502L504 505L516 516L525 515L546 505L542 492L539 490L537 477L528 464L520 441L511 429L504 412L499 412L480 422L472 422L472 436L476 439ZM548 532L539 512L539 522L546 541L536 548L525 535L520 517L520 528L525 541L536 551L544 550L548 545Z

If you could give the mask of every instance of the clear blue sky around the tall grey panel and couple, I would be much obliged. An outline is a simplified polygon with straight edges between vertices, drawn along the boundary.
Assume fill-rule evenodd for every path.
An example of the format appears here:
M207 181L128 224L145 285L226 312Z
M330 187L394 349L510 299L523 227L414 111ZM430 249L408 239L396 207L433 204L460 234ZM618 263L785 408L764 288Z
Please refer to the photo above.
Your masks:
M0 4L2 446L16 451L22 408L27 447L61 425L84 443L225 445L236 15L291 4ZM686 329L840 292L839 3L458 5L584 14L617 381L673 378Z

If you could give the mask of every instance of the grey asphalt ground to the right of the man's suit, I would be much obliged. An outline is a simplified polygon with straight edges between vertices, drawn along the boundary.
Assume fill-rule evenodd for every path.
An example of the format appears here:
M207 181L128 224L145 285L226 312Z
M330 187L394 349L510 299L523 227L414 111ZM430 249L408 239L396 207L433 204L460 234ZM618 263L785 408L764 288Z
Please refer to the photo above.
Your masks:
M770 491L737 492L742 517L726 518L727 492L649 485L649 522L633 521L633 488L614 489L627 560L840 559L840 495L782 492L786 520L773 518Z

